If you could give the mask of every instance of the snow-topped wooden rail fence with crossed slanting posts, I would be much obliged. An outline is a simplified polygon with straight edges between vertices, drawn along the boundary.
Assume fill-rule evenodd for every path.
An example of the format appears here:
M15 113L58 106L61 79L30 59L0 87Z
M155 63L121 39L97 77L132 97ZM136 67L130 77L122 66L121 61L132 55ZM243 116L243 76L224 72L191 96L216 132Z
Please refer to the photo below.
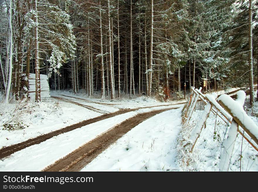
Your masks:
M182 122L184 124L184 128L187 128L189 124L191 124L190 120L197 101L201 101L205 105L193 131L191 131L189 140L184 142L183 147L186 149L185 151L188 150L190 153L193 151L203 127L206 128L206 121L212 112L216 116L220 117L225 124L230 126L228 137L225 139L225 142L223 142L223 149L219 163L220 171L228 171L237 132L239 132L243 138L245 138L245 140L247 140L247 142L258 151L258 127L243 109L246 96L244 91L240 90L237 92L236 100L223 94L218 98L217 102L216 99L218 96L216 93L213 93L212 95L204 95L201 93L201 89L202 88L191 88L189 102L186 103L183 109Z

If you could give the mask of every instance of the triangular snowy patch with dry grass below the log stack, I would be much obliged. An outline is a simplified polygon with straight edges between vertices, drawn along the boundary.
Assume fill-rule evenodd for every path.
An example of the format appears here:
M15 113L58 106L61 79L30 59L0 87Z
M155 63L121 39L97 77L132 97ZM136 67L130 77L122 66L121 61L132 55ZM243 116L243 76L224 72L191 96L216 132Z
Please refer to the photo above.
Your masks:
M91 111L76 104L57 101L54 98L52 98L52 102L29 103L26 106L29 109L26 111L23 109L21 111L23 114L17 121L23 122L28 127L8 131L2 130L4 127L0 125L0 148L102 115L101 113ZM16 104L6 105L0 103L0 107L1 113L5 114L15 108ZM2 124L6 121L3 119L3 116L0 116L0 123Z

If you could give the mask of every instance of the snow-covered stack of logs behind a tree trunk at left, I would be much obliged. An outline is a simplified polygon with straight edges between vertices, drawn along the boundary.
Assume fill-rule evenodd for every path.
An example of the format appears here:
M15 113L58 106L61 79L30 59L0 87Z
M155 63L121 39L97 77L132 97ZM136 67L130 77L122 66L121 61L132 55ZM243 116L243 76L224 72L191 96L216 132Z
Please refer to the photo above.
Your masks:
M29 75L29 98L35 99L35 74ZM40 99L41 101L51 100L47 75L40 74Z

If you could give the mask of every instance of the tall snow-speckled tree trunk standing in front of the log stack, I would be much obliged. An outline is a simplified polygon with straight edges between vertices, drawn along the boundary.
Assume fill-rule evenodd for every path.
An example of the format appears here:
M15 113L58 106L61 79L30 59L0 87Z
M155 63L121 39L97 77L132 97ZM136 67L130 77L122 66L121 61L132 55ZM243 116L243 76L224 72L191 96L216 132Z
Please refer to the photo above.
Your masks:
M35 102L40 102L40 58L38 42L38 0L35 0Z

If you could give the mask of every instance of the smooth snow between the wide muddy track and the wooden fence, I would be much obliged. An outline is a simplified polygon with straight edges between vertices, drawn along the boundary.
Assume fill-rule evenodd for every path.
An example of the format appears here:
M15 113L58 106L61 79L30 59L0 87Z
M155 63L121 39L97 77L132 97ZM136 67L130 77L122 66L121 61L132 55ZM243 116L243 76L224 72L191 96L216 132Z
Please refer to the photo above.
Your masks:
M162 112L135 126L82 171L180 171L176 138L181 109Z

